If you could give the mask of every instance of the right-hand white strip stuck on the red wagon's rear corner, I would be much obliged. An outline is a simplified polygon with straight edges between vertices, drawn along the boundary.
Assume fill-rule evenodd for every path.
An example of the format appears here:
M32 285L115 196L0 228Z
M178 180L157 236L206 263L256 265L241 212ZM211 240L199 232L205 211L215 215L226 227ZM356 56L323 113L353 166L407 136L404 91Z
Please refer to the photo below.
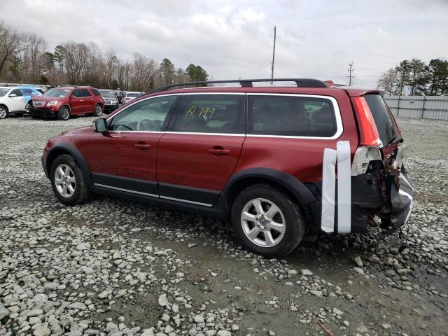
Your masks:
M350 141L337 141L337 232L351 232Z

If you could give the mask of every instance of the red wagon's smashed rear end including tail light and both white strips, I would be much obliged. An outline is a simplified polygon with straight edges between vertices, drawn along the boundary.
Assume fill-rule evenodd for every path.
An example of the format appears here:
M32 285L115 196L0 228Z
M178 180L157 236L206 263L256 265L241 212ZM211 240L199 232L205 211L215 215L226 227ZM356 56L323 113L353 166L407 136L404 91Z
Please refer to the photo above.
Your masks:
M390 235L412 211L414 188L403 165L406 146L378 90L342 90L353 108L358 144L337 141L337 149L325 148L322 182L307 183L318 200L310 204L314 223L323 232L362 233L379 218L382 232Z

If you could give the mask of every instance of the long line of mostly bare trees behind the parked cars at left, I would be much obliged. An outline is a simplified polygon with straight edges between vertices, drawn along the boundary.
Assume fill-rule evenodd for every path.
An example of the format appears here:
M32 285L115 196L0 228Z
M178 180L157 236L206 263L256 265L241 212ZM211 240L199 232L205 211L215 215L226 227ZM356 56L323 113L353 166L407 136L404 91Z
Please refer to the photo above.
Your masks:
M113 49L103 52L95 43L68 41L48 50L44 38L0 22L0 81L46 85L92 85L113 90L146 91L171 83L202 81L202 66L177 68L165 58L134 52L123 59Z

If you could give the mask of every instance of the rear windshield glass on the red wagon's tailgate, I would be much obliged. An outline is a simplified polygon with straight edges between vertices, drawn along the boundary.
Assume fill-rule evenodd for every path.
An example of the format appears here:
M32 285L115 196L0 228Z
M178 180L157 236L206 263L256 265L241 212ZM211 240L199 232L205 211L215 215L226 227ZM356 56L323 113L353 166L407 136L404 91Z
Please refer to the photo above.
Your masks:
M379 94L366 94L364 98L377 124L379 139L384 146L391 144L398 136L398 130L383 97Z

